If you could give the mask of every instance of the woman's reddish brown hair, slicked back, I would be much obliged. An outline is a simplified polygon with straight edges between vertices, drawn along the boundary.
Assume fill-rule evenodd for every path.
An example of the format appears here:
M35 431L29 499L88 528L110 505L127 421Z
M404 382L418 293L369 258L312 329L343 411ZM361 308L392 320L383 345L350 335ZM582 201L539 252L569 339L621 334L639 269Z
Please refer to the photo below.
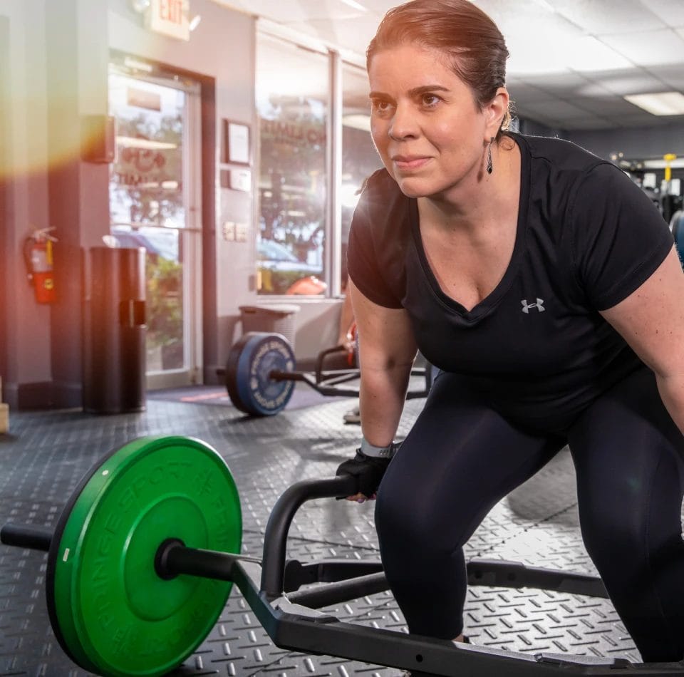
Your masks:
M494 21L469 0L413 0L390 9L368 45L366 66L371 66L378 51L405 43L444 53L480 108L506 84L509 54L504 36ZM502 129L509 127L510 120L507 111Z

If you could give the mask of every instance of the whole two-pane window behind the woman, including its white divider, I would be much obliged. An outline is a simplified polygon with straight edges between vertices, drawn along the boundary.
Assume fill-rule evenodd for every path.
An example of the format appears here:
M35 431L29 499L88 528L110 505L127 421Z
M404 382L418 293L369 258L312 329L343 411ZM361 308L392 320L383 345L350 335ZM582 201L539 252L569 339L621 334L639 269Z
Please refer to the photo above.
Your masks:
M342 100L331 98L331 71L341 73ZM326 130L341 114L341 181L336 205L326 185L333 162ZM363 181L382 167L371 140L365 68L333 53L298 46L268 33L257 36L259 115L259 294L330 295L346 286L346 251ZM336 211L333 211L336 210ZM331 224L339 219L340 232ZM333 246L334 245L334 246ZM328 269L328 249L339 255ZM336 252L339 252L337 254ZM332 284L332 276L341 279Z

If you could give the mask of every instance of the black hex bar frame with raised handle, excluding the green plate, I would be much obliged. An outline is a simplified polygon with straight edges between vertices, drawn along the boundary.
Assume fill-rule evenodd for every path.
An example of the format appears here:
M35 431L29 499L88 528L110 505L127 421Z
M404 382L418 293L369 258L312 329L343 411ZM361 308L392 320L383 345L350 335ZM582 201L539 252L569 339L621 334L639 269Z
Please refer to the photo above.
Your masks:
M356 478L303 480L289 487L274 506L264 535L261 565L239 556L192 552L171 547L171 572L230 580L237 584L269 637L280 648L392 666L443 676L616 677L682 675L683 663L631 663L625 658L524 653L454 644L403 632L368 628L317 611L343 601L389 589L380 562L321 560L286 561L286 540L296 510L308 500L356 493ZM517 562L473 559L467 563L468 584L529 587L607 598L598 577ZM305 584L321 583L299 591Z

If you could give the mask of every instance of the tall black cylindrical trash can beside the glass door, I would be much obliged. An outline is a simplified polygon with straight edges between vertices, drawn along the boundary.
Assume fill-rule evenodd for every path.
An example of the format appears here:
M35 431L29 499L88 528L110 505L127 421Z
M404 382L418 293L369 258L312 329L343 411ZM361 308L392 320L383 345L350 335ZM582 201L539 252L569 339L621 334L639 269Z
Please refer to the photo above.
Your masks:
M86 262L83 409L145 410L145 249L93 247Z

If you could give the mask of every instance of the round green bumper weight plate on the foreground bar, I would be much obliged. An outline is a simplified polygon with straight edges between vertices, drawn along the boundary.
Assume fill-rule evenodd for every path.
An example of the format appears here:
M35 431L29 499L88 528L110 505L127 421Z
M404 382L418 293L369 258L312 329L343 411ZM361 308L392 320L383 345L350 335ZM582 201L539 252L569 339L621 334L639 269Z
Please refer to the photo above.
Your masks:
M91 470L64 510L48 554L48 611L73 660L107 676L162 675L211 631L232 583L162 580L166 539L239 552L242 515L232 475L208 445L141 438Z

